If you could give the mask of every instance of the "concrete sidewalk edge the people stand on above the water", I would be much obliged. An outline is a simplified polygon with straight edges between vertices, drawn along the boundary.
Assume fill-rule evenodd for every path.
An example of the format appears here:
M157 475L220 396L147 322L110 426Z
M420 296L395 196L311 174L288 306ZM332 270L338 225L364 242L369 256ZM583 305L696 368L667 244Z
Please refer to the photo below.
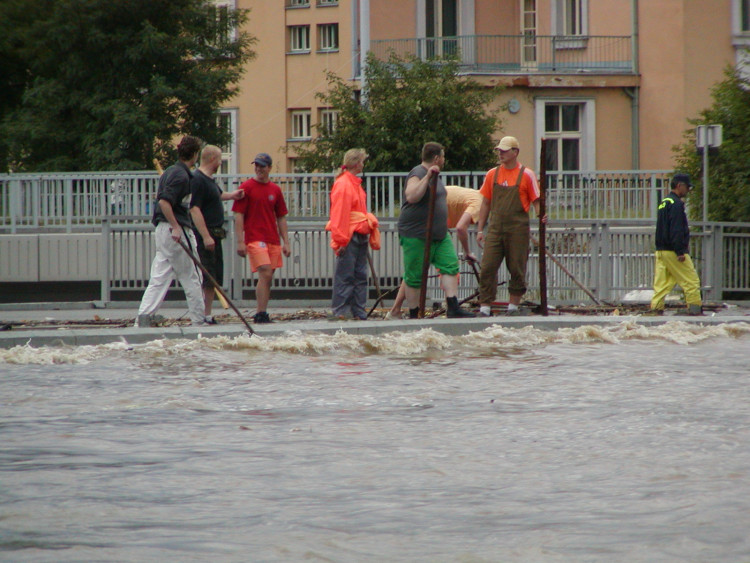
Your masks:
M254 312L254 303L236 303L237 307L250 322ZM696 325L717 325L723 323L750 323L750 304L737 303L728 305L715 313L708 312L703 317L689 317L682 314L668 314L661 317L643 315L576 315L555 314L542 317L530 315L524 317L491 317L474 319L422 319L422 320L368 320L368 321L330 321L323 317L327 310L327 302L276 302L271 303L269 313L272 317L291 314L298 311L317 313L320 318L312 320L292 320L274 322L271 324L252 325L257 336L283 336L288 332L317 332L334 334L343 330L351 334L378 335L383 332L402 331L412 332L423 328L449 335L467 334L481 331L493 325L508 328L533 326L539 329L558 330L560 328L575 328L583 325L612 326L623 322L635 322L644 326L658 326L668 322L682 321ZM247 327L236 317L234 311L228 310L232 318L224 324L209 327L163 326L153 328L135 328L132 326L137 312L137 303L117 303L106 306L97 302L86 303L36 303L0 305L0 326L11 325L0 331L0 348L29 345L39 346L81 346L97 345L111 342L128 342L141 344L164 338L195 339L199 336L227 336L237 337L248 334ZM216 309L218 315L225 314L223 309ZM166 319L184 319L187 315L186 307L179 303L167 302L158 314ZM105 326L56 326L56 322L84 323L85 321L101 322L104 320L122 321L118 324ZM18 326L13 323L44 322L43 326Z

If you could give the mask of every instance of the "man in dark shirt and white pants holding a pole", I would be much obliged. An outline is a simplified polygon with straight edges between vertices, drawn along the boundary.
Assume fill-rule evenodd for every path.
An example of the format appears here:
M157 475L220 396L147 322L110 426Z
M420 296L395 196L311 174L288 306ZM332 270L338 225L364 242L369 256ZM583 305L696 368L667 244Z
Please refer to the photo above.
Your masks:
M182 239L197 256L189 213L190 169L198 159L200 148L200 141L195 137L183 137L177 145L179 162L167 168L159 178L159 190L156 194L158 205L151 220L156 225L156 256L151 263L151 277L141 299L136 326L150 326L154 313L164 301L175 277L185 291L192 325L207 324L200 269L178 244Z

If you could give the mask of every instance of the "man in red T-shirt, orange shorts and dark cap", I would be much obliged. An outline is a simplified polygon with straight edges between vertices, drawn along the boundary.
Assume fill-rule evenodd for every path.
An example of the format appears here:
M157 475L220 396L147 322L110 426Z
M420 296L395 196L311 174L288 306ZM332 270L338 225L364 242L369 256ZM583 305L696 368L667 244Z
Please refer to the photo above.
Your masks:
M272 160L260 153L253 160L255 178L246 180L240 189L245 197L234 202L234 230L237 233L237 254L250 259L250 267L258 273L255 300L258 311L256 323L270 323L268 301L271 297L273 273L281 268L284 256L289 257L289 235L286 208L281 188L271 182Z

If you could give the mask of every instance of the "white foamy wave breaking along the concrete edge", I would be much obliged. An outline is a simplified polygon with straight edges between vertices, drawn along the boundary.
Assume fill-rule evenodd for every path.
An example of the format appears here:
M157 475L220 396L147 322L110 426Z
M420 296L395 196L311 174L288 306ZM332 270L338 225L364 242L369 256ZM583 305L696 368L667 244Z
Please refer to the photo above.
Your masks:
M154 340L137 346L127 342L78 347L16 346L0 349L0 363L7 364L85 364L113 355L138 354L148 357L179 356L200 350L235 351L245 353L282 352L302 356L336 354L365 354L393 356L423 356L430 351L467 351L480 354L502 353L512 350L543 347L550 344L613 344L643 340L688 345L716 338L743 338L750 335L750 323L725 323L702 326L681 321L658 326L625 320L616 325L582 325L556 331L533 327L508 328L500 325L464 336L448 336L425 328L414 332L384 332L377 336L349 334L343 330L335 334L292 331L284 336L261 338L200 337L196 340Z

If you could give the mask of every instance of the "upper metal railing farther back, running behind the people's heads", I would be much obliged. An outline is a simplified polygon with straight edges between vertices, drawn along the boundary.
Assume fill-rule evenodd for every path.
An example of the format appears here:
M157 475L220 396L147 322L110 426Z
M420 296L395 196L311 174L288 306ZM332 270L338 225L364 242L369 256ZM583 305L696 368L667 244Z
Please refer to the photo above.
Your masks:
M547 207L553 219L653 219L669 189L670 171L578 171L547 174ZM447 185L478 189L485 172L444 172ZM247 179L217 175L225 190ZM292 219L328 217L333 174L274 174ZM398 217L403 173L367 173L370 208L381 219ZM103 218L126 221L153 210L156 173L0 175L0 232L73 232L99 228ZM229 204L227 209L229 209Z

